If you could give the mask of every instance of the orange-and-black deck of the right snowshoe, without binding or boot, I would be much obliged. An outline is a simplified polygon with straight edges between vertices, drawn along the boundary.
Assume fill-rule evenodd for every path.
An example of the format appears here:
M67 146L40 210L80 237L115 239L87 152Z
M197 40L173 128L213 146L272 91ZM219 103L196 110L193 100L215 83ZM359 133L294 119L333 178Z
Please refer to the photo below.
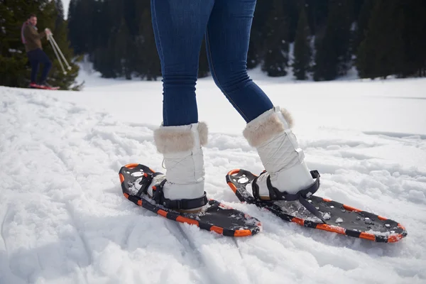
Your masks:
M246 185L251 184L254 178L256 175L248 170L236 169L226 175L226 182L241 202L268 209L285 221L312 229L385 243L393 243L407 236L407 231L398 222L315 195L308 197L307 201L320 211L327 224L311 214L298 201L272 202L255 199L246 189Z

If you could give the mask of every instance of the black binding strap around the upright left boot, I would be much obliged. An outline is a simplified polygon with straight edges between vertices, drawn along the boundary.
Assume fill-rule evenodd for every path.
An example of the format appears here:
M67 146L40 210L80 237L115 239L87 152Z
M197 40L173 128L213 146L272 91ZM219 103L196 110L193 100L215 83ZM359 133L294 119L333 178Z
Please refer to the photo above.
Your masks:
M204 192L204 195L199 198L192 200L169 200L164 197L163 186L166 180L160 183L160 185L153 186L153 200L157 204L161 204L168 209L173 210L190 210L198 207L203 207L207 202L207 195Z

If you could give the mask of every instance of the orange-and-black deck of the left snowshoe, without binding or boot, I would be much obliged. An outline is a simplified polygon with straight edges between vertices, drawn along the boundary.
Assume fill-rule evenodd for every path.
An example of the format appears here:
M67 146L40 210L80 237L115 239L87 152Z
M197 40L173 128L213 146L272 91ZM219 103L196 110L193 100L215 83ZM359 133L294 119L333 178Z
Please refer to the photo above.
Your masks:
M141 197L132 195L131 187L141 179L144 173L154 173L146 165L129 164L122 167L119 171L121 189L124 196L134 204L148 209L167 219L194 224L200 229L215 231L224 236L251 236L261 231L261 222L258 219L244 214L236 209L227 207L217 200L209 200L207 209L197 213L178 212L156 204L148 195L142 194Z

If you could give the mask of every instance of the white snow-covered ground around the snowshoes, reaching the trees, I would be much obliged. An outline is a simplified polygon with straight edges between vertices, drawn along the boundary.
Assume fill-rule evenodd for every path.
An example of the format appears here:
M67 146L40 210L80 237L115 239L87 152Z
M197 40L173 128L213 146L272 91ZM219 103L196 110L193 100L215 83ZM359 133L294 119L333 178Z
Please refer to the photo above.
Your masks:
M84 72L83 72L84 73ZM426 283L426 80L282 82L317 195L403 224L396 244L304 229L239 204L233 168L262 170L244 121L200 80L209 197L263 223L232 239L158 217L121 195L127 163L161 169L161 83L84 76L83 92L0 87L0 283Z

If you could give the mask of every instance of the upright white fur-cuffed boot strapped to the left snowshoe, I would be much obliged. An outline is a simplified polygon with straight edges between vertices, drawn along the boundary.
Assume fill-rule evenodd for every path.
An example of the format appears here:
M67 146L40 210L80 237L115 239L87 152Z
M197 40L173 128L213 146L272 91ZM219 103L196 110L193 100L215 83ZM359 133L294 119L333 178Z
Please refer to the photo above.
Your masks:
M160 202L170 209L198 211L207 204L204 192L204 156L207 125L160 126L154 131L155 146L163 154L165 175L155 175L147 193L161 187ZM160 198L160 197L158 197Z

